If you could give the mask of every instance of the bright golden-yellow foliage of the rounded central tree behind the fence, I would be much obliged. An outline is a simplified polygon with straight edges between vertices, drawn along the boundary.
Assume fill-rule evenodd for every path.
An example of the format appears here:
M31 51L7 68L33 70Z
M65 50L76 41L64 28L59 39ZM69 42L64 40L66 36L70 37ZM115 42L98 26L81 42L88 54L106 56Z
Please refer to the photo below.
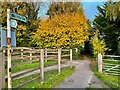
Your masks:
M84 15L57 15L39 24L33 41L40 48L69 48L82 45L89 36L89 26Z

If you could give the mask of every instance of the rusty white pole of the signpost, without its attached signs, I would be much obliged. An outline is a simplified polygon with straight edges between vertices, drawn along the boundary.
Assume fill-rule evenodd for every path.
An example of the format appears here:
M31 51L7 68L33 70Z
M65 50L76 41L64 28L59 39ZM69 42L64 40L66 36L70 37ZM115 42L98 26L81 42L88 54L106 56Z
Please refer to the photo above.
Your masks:
M7 60L8 60L8 88L12 88L12 73L11 73L11 31L10 31L10 9L7 9Z

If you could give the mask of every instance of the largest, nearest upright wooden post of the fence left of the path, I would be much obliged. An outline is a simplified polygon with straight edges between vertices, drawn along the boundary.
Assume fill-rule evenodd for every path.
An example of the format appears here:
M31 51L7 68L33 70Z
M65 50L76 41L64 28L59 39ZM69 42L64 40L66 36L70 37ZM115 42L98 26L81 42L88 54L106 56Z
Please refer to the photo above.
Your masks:
M44 49L40 50L40 61L41 61L40 76L41 76L41 84L42 84L44 83Z

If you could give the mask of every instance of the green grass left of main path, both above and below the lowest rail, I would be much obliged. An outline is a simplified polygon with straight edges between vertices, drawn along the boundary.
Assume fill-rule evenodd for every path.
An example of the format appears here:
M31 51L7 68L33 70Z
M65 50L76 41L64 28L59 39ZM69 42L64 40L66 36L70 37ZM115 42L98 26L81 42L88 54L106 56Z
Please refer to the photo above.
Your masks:
M71 75L74 72L74 70L75 70L74 68L71 69L70 67L64 68L61 70L60 75L58 75L57 70L51 70L51 71L45 72L45 82L43 84L40 84L40 79L38 79L31 83L24 85L22 88L52 88L52 87L55 87L56 85L59 85L60 82L64 81L66 77ZM13 87L23 82L26 82L32 78L39 77L39 76L40 74L34 74L34 75L27 76L21 79L13 80Z

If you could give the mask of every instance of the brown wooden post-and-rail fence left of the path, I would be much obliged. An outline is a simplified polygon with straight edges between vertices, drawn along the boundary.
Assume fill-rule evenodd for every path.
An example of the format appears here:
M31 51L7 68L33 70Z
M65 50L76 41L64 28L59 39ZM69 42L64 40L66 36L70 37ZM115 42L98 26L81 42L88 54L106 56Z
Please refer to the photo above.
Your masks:
M61 71L61 61L66 60L68 57L68 60L72 62L72 49L39 49L39 48L26 48L26 47L17 47L12 48L12 68L19 67L21 65L25 64L31 64L34 62L40 62L40 67L28 69L28 70L22 70L18 71L17 73L12 73L12 79L14 80L18 76L24 75L28 72L32 72L34 70L40 69L40 77L41 77L41 83L44 82L44 61L48 60L56 60L58 63L58 74L60 74ZM64 53L67 52L67 53ZM5 62L5 71L3 71L2 75L4 75L4 72L7 71L7 57L6 57L5 49L4 53L2 55L3 59L2 61ZM62 60L61 60L62 59ZM7 72L5 73L7 74ZM5 76L5 79L7 79L7 75ZM34 79L33 79L34 80ZM4 79L2 80L5 81ZM31 81L31 80L30 80ZM3 83L4 84L4 83ZM24 84L24 83L23 83ZM2 85L4 88L5 85ZM19 87L19 86L16 86Z

